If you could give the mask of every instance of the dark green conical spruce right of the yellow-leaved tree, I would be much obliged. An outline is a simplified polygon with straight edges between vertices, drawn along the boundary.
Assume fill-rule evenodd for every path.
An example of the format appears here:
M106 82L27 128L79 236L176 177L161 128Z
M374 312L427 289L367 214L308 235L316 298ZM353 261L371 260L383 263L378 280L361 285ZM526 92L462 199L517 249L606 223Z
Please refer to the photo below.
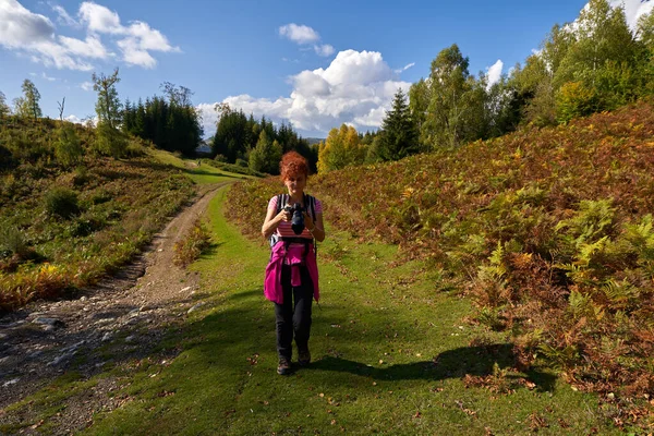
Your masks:
M392 108L382 121L382 131L377 150L382 160L399 160L419 152L417 129L402 88L396 93Z

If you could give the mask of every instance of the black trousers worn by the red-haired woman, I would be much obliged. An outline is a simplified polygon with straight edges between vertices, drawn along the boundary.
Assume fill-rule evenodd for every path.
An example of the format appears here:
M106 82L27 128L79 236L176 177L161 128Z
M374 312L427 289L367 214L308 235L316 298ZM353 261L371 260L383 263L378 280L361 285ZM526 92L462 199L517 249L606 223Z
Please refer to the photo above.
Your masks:
M313 282L305 266L300 266L302 284L291 286L291 266L281 267L283 304L275 303L277 353L289 361L293 354L293 336L299 350L308 348Z

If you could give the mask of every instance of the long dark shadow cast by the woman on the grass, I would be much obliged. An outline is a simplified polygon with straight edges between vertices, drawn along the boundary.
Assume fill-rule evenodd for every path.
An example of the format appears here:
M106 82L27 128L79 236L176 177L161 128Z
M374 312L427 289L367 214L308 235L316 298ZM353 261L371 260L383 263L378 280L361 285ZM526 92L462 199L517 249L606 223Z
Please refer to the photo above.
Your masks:
M312 363L308 370L335 371L371 377L376 380L443 380L446 378L462 378L465 375L488 376L493 374L495 363L500 368L513 364L513 346L496 343L482 347L462 347L447 350L431 361L403 363L387 367L370 366L364 363L341 358L325 356ZM556 376L531 370L525 373L528 378L536 384L540 391L552 391ZM507 378L518 378L507 376Z

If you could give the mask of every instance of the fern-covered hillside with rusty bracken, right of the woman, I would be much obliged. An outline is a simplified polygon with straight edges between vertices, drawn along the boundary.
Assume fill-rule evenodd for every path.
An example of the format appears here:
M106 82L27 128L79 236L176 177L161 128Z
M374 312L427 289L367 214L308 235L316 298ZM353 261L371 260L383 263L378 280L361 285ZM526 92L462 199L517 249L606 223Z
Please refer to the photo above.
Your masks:
M654 107L526 128L456 150L315 177L327 219L429 265L434 292L472 299L516 366L549 365L629 416L654 396ZM389 182L391 181L391 182ZM279 182L230 194L251 234ZM619 424L627 415L616 412Z

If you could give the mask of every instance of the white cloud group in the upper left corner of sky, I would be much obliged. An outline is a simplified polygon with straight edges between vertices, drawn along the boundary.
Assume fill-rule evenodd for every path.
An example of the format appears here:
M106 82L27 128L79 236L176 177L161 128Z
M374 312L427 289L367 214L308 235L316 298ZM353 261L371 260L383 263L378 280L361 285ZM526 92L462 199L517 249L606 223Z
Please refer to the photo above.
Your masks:
M147 23L135 21L129 25L120 22L117 12L85 1L80 5L75 21L60 5L51 5L58 22L86 28L84 40L57 35L47 16L33 13L17 0L0 0L0 46L22 53L46 66L90 71L94 59L109 59L114 55L102 43L102 36L113 39L128 64L154 68L156 59L150 51L180 51L169 44L165 35Z

